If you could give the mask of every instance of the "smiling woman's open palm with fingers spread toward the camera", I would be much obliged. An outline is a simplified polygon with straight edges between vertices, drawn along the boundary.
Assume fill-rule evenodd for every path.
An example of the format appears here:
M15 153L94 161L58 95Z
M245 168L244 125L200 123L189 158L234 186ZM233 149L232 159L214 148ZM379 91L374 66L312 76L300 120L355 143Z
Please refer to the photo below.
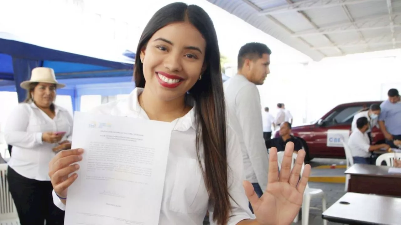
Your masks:
M251 183L247 181L244 183L245 192L259 224L290 225L298 215L308 183L310 165L305 165L300 179L305 151L298 151L295 165L291 170L293 152L294 143L287 143L279 173L277 149L274 147L270 149L267 189L260 199Z

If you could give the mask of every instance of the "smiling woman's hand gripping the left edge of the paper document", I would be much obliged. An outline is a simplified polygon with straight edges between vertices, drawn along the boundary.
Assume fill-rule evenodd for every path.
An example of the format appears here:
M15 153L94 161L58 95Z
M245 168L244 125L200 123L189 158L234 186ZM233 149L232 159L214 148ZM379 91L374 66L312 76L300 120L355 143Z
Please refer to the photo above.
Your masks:
M64 150L49 163L49 177L54 191L59 197L67 197L67 188L77 179L77 162L82 160L83 149ZM71 176L69 176L73 173Z

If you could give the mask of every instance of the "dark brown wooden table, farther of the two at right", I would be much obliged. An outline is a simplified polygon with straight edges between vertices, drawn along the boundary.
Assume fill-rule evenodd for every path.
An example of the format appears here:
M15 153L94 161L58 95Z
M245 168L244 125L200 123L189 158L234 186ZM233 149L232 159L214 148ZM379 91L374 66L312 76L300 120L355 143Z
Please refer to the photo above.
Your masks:
M348 192L401 197L401 174L389 173L389 168L365 164L352 165L345 171L345 174L350 175Z

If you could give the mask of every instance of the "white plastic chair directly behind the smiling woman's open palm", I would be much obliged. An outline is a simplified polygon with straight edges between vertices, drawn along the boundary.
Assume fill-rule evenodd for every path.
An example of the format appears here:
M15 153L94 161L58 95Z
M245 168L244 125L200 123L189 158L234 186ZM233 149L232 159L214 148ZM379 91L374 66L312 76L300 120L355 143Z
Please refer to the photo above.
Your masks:
M278 168L281 169L281 163L283 161L284 151L277 153L277 161L278 161ZM292 163L291 169L294 167L295 160L297 158L297 153L292 153ZM304 172L305 163L302 163L301 175ZM312 198L322 198L322 212L326 211L326 196L322 189L318 188L310 188L308 183L306 184L305 192L304 192L304 200L302 201L302 225L308 225L309 223L309 209L310 207L310 200ZM298 215L294 219L294 223L298 222ZM327 225L327 221L324 219L323 224Z

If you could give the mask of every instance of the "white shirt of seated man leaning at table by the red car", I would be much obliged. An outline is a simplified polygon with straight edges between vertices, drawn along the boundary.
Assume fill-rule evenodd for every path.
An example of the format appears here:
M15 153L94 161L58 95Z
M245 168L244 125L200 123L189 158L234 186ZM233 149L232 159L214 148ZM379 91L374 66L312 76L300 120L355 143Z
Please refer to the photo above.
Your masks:
M352 157L369 158L371 156L369 137L366 132L362 133L359 129L351 133L348 139L348 147L351 149Z

